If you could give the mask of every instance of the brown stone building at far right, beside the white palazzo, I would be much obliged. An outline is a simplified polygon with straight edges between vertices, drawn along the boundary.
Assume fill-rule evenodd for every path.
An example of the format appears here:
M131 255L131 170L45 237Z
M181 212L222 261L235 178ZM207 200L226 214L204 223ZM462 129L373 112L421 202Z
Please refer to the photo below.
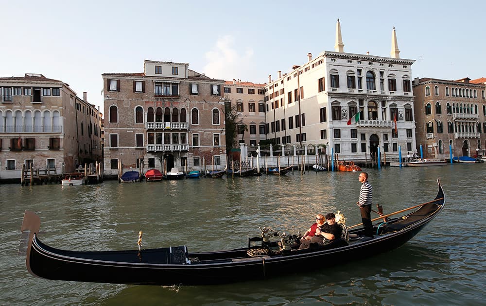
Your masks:
M413 89L417 147L422 145L424 157L449 159L451 150L453 156L484 154L484 83L472 83L469 78L416 78Z

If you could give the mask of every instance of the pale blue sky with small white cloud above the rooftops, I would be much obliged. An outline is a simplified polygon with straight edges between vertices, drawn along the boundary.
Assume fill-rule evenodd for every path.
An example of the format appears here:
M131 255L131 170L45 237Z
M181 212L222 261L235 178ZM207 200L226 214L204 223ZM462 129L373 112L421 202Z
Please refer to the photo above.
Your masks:
M2 1L0 77L41 73L103 112L102 73L189 63L216 79L265 83L334 51L390 56L395 27L412 77L486 77L486 1Z

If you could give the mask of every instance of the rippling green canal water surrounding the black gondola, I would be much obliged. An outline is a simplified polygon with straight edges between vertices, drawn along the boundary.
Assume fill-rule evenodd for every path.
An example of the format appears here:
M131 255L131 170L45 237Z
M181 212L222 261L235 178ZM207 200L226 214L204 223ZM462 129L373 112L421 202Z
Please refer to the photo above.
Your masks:
M434 199L444 210L394 251L333 268L219 286L128 286L50 281L17 256L25 209L41 218L48 245L79 251L186 244L189 251L237 248L259 226L295 234L316 213L359 223L357 172L188 179L61 187L0 186L0 305L478 305L486 289L486 164L368 170L385 213ZM238 275L235 275L238 278Z

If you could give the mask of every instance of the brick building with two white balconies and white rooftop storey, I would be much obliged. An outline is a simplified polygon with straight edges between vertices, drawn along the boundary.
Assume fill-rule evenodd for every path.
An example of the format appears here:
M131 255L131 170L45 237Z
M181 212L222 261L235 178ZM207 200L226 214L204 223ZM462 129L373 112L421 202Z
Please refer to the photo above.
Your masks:
M144 72L102 76L105 175L117 175L119 162L142 174L225 168L223 80L149 60Z

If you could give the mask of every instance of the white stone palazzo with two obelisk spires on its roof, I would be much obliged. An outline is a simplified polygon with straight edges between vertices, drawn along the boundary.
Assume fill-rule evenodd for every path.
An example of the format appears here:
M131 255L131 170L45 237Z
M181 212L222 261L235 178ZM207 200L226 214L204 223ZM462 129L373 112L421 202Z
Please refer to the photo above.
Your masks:
M387 159L415 147L412 69L401 59L395 29L391 57L344 52L339 20L335 51L324 51L294 65L265 86L268 139L294 144L340 160ZM359 112L359 119L354 117ZM354 119L353 122L348 120ZM287 150L291 151L291 150ZM315 151L314 151L315 152ZM384 156L383 156L384 157Z

